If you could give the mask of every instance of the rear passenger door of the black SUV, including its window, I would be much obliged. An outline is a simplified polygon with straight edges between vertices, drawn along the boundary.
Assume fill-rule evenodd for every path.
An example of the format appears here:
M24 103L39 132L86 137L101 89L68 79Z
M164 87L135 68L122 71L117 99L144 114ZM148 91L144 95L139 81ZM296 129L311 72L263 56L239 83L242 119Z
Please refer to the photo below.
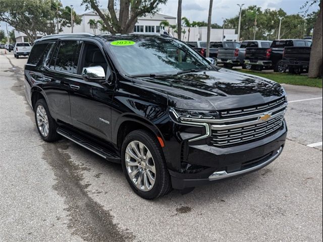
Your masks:
M78 62L82 42L64 39L52 48L43 71L43 90L48 99L50 114L59 121L72 124L70 91L72 83L81 80Z

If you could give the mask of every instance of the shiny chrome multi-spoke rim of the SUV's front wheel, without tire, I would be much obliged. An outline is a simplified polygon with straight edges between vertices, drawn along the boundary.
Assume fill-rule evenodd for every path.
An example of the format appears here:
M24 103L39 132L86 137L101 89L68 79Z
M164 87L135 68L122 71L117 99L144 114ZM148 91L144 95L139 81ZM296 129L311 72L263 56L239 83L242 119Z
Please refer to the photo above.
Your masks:
M151 190L156 180L156 167L148 148L140 141L128 144L125 154L127 173L141 191Z

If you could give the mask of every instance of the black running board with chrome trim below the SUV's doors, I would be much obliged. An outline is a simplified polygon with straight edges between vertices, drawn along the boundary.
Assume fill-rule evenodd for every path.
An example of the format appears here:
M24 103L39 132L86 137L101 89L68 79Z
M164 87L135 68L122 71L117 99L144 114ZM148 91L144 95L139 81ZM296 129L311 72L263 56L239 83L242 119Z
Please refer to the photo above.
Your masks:
M92 151L93 153L103 157L106 160L109 160L115 163L121 163L120 156L118 156L114 152L111 152L109 149L103 148L92 141L88 141L84 139L82 136L70 130L67 130L64 128L58 128L56 132L61 136L73 141L74 143L84 147L85 149L88 149L89 151Z

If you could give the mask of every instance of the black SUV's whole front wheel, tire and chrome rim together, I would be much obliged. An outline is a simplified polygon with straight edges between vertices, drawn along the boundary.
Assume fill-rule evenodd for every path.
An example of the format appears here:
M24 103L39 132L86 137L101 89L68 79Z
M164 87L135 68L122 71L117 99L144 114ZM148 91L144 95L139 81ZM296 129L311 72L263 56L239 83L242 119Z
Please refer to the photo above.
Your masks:
M136 130L128 134L122 144L121 160L130 187L140 197L152 200L172 190L163 150L149 132Z

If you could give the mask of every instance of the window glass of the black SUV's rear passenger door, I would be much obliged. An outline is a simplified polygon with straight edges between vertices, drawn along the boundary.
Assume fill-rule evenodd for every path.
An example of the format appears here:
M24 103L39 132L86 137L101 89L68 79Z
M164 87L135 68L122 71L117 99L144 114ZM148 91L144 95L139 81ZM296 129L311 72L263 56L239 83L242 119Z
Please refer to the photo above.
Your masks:
M49 68L77 74L81 46L80 41L62 41L53 52Z

